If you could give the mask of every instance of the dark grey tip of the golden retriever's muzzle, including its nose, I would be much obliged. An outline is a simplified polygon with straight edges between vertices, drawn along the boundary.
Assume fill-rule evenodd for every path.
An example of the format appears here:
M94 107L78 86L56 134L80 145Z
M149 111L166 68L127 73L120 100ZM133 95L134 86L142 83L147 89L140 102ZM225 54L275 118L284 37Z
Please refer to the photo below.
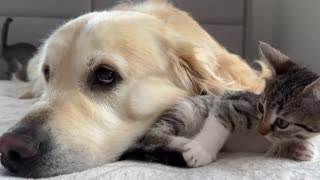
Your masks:
M39 166L40 157L49 152L49 133L43 127L48 118L48 111L30 113L0 137L5 168L24 176Z

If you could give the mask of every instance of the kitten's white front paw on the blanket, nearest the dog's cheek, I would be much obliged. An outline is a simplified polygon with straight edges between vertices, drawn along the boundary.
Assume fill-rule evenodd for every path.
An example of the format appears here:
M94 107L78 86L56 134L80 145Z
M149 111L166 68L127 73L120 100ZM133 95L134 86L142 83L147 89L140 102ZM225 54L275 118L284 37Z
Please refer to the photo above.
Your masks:
M189 167L200 167L210 164L216 159L197 141L191 141L184 146L182 156Z

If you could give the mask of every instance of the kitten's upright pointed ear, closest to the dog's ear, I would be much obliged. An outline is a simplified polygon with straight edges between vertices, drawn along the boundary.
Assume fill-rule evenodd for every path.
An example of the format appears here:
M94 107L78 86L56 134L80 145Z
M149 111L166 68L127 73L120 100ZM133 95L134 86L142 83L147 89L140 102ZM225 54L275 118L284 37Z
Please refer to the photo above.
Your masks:
M259 48L261 55L273 68L275 74L284 73L291 66L295 65L295 63L292 62L288 56L265 42L260 41Z

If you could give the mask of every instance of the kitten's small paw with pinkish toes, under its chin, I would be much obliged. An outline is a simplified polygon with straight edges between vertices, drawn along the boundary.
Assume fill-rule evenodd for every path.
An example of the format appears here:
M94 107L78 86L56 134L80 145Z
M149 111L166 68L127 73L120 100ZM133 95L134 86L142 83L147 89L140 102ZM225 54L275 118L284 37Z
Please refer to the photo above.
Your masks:
M294 143L289 146L289 156L298 161L312 160L316 151L316 146L309 142Z

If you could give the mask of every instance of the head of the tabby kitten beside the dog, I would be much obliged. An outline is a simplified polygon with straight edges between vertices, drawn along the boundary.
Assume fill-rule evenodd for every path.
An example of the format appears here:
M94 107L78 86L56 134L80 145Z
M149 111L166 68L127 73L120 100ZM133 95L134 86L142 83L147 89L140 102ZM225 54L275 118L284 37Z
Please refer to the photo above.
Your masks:
M266 43L264 59L274 72L258 104L259 131L268 140L301 140L320 132L320 79Z

